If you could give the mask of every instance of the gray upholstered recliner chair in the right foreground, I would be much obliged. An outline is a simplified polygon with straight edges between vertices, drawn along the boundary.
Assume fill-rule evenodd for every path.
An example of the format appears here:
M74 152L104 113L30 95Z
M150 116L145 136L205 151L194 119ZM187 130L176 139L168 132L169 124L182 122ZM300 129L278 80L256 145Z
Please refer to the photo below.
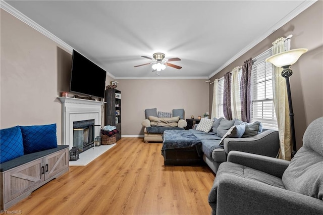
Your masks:
M323 214L323 117L291 162L231 151L208 196L212 214Z

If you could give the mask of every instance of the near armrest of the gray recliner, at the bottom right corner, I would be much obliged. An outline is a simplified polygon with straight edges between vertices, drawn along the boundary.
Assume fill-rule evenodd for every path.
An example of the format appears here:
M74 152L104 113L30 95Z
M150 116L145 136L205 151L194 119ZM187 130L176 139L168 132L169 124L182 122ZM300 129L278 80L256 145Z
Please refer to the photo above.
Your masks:
M217 192L217 214L323 213L322 200L232 175L222 177Z

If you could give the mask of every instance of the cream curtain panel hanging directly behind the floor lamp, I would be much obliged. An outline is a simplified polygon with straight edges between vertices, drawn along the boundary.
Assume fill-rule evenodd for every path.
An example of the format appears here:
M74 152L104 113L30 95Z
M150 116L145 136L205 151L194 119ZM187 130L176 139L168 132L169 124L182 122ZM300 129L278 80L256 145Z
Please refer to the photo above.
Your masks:
M289 46L285 48L285 38L278 38L273 42L273 55L289 50ZM286 80L281 75L283 68L273 65L273 91L274 105L277 117L280 152L279 158L291 160L291 132L289 119L289 106L287 97Z

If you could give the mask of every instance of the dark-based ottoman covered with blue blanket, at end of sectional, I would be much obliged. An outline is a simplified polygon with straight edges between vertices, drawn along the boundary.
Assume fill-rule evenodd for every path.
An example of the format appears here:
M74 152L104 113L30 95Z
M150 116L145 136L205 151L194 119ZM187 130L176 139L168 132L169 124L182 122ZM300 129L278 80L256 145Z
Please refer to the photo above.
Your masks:
M161 148L161 154L164 156L164 165L204 165L201 144L201 141L189 131L165 131L163 147Z

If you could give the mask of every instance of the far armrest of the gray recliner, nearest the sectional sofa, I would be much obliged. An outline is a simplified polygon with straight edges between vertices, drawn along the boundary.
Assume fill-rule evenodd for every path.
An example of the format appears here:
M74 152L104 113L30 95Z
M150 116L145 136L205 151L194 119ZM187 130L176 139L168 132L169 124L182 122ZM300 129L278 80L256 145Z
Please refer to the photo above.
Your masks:
M228 154L228 162L250 167L278 178L282 178L286 168L290 164L288 160L241 151L230 151Z

